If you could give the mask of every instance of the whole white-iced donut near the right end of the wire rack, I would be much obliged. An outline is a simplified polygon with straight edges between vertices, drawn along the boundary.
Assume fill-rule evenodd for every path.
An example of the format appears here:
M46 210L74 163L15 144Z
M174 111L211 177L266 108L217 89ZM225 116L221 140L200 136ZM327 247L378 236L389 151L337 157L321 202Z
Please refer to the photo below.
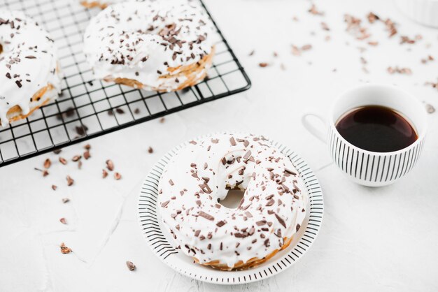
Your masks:
M98 79L171 92L206 77L212 25L190 0L117 3L91 20L84 52Z

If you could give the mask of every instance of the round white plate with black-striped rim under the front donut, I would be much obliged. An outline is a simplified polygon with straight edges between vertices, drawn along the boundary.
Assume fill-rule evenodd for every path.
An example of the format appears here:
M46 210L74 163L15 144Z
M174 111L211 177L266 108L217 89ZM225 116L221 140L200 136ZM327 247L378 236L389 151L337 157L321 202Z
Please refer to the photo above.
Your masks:
M187 143L183 143L164 155L153 166L143 182L139 196L138 217L141 232L146 242L148 242L150 249L160 260L177 272L203 282L213 284L244 284L274 276L292 266L299 258L302 258L315 241L323 221L323 192L311 168L298 154L295 154L295 152L284 145L275 142L271 143L290 158L302 176L306 185L306 191L309 193L306 219L304 219L302 228L294 236L294 240L289 247L278 252L276 256L256 268L233 272L214 270L198 265L192 261L192 258L178 251L175 248L174 240L171 238L169 231L162 226L160 212L158 212L157 208L157 196L158 182L164 167L172 156L178 154L179 149L187 145Z

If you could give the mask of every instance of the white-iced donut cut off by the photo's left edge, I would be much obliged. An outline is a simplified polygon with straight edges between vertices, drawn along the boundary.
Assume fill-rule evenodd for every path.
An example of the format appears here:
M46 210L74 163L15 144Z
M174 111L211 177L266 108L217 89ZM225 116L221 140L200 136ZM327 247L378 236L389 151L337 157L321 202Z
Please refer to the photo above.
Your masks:
M0 124L55 99L61 78L52 38L21 12L0 10Z

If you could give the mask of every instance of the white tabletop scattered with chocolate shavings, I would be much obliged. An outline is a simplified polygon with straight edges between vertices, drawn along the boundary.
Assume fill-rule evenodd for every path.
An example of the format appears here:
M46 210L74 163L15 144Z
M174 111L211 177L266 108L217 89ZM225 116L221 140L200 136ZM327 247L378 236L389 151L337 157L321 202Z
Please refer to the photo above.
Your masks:
M300 124L300 115L310 107L324 111L344 89L363 82L399 85L438 108L438 90L424 85L437 81L438 61L421 64L428 54L438 59L438 30L411 22L387 0L318 1L323 17L309 14L304 0L206 4L253 87L169 115L164 123L154 120L90 140L92 158L82 170L71 157L85 143L63 149L67 166L48 154L0 168L0 291L437 291L438 112L429 115L416 168L378 189L346 180L325 145ZM383 24L368 24L369 11L397 22L399 34L388 38ZM361 17L379 45L347 34L344 13ZM320 22L331 30L323 31ZM416 34L423 40L400 45L401 35ZM291 54L292 44L308 43L313 48L302 56ZM360 56L369 73L362 71ZM259 62L271 66L260 68ZM390 75L388 66L413 73ZM323 228L311 251L281 275L255 284L217 286L178 275L148 249L136 221L139 186L153 163L185 140L222 130L261 133L290 145L316 171L324 191ZM42 168L45 158L56 162L42 177L34 167ZM114 161L122 180L101 178L106 159ZM75 180L72 187L66 175ZM71 201L63 204L62 198ZM67 225L59 223L61 217ZM61 254L61 242L74 252ZM129 271L125 261L136 270Z

